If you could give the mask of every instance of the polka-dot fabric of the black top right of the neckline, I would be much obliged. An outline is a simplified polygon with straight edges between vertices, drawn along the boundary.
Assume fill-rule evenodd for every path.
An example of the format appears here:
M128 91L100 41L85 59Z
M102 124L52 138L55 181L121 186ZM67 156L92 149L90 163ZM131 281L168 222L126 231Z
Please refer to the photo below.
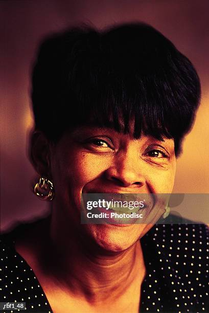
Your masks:
M207 226L155 225L141 243L147 275L140 312L209 312Z

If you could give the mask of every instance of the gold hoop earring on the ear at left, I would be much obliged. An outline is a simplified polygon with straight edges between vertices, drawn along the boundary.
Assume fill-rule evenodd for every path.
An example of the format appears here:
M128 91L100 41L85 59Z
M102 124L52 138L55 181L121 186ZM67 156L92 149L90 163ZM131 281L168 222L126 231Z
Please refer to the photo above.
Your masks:
M47 177L40 177L39 182L34 187L34 193L41 200L51 201L54 198L54 185Z

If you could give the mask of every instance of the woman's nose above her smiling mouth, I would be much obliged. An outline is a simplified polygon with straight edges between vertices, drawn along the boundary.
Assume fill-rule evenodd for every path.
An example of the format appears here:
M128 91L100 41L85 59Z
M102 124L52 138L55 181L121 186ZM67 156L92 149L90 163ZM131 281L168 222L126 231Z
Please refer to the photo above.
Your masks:
M115 157L114 163L105 171L108 181L121 187L142 187L145 184L143 166L138 155L128 151Z

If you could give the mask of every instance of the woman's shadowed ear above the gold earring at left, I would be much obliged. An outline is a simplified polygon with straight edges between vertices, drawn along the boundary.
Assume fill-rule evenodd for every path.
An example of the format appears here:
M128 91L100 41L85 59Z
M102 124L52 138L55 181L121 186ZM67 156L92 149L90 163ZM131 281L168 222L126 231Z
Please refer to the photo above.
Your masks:
M36 172L50 178L50 143L42 131L33 131L29 149L30 161Z

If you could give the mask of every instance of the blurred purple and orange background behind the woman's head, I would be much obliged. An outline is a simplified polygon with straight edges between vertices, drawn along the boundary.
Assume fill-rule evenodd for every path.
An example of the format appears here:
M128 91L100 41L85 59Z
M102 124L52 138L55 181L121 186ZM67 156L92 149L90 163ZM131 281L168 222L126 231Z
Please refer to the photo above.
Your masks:
M104 27L145 21L171 39L194 63L202 101L194 128L177 164L174 192L209 191L208 0L30 0L1 1L1 211L2 227L43 214L47 204L29 185L34 171L27 159L31 61L43 35L80 22Z

